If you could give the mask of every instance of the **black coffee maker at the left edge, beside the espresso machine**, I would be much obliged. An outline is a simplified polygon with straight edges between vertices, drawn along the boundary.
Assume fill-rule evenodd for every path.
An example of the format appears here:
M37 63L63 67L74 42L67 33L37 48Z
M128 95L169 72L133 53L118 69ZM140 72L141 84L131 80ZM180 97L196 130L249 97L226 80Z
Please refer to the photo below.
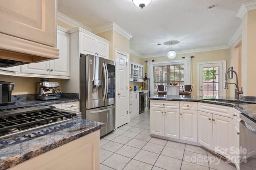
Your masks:
M0 105L14 105L15 102L11 102L12 91L15 83L0 81Z

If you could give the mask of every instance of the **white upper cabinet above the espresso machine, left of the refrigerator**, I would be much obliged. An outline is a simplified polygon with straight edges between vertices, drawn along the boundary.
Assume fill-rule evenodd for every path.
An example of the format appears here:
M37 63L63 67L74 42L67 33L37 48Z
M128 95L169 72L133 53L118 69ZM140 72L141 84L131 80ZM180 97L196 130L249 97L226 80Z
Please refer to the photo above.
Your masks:
M61 28L60 28L61 29ZM21 73L34 74L34 77L41 75L70 75L70 34L58 30L57 31L57 47L60 49L60 58L40 63L30 63L21 65ZM40 75L39 75L40 77ZM56 77L58 78L58 77Z

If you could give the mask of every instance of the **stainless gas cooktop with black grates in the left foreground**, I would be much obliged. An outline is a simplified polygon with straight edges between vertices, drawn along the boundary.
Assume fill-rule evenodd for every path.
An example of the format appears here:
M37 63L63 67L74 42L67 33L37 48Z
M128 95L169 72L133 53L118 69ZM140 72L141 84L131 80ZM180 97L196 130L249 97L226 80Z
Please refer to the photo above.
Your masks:
M0 109L0 148L56 132L80 118L81 113L46 105Z

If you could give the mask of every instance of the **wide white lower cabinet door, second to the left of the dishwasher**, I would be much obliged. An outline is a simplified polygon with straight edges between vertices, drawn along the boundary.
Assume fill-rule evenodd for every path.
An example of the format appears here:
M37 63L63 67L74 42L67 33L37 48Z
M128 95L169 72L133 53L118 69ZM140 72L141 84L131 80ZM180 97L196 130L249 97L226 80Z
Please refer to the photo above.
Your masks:
M233 146L233 119L212 115L214 152L230 158L230 147Z

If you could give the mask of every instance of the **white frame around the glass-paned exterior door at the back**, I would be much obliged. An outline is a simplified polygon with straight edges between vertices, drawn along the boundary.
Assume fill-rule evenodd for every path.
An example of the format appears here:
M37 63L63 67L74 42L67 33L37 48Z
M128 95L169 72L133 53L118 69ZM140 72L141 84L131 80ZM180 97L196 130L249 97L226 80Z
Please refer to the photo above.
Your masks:
M225 72L226 72L226 60L218 60L218 61L202 61L202 62L197 62L197 95L200 96L200 65L201 64L214 64L214 63L222 63L223 67L222 67L222 77L225 77ZM224 82L222 83L222 89L224 89ZM226 91L223 90L223 97L226 97Z

